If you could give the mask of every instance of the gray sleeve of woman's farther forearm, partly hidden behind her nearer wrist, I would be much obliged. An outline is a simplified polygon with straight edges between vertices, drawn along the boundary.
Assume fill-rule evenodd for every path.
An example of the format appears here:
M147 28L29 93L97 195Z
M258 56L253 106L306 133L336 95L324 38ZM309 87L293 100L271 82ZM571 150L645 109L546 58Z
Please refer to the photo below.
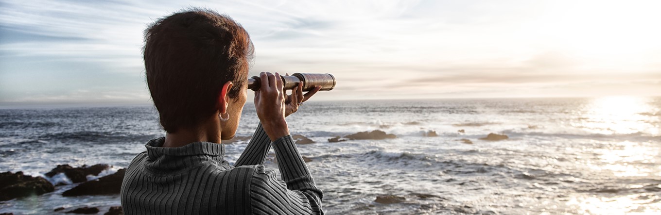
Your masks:
M257 129L254 130L253 138L250 139L248 146L243 150L234 166L262 165L270 148L271 139L266 135L262 123L259 123Z

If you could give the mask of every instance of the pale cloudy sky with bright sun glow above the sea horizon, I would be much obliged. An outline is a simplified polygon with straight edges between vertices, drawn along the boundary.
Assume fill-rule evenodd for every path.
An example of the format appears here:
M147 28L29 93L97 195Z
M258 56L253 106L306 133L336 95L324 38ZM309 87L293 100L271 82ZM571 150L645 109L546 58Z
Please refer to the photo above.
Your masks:
M143 30L190 7L249 32L249 76L334 75L315 100L661 96L661 1L0 0L0 106L149 104Z

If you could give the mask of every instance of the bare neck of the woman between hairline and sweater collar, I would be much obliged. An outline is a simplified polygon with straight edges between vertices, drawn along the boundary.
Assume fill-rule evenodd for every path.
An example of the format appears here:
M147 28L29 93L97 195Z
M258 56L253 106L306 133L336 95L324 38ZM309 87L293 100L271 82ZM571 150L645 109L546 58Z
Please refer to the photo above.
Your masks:
M220 143L221 127L212 121L203 123L191 129L177 129L175 133L167 133L163 147L181 147L191 142Z

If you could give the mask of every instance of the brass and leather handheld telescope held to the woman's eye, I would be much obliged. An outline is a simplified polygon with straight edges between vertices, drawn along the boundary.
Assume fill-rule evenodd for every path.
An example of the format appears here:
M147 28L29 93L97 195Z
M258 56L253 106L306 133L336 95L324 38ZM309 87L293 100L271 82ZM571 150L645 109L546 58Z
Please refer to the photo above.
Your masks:
M321 86L319 91L329 91L335 88L335 77L328 73L293 73L292 75L280 75L282 85L285 90L292 90L298 86L298 82L303 82L303 91L310 91L315 86ZM259 90L260 78L253 76L248 78L248 88Z

